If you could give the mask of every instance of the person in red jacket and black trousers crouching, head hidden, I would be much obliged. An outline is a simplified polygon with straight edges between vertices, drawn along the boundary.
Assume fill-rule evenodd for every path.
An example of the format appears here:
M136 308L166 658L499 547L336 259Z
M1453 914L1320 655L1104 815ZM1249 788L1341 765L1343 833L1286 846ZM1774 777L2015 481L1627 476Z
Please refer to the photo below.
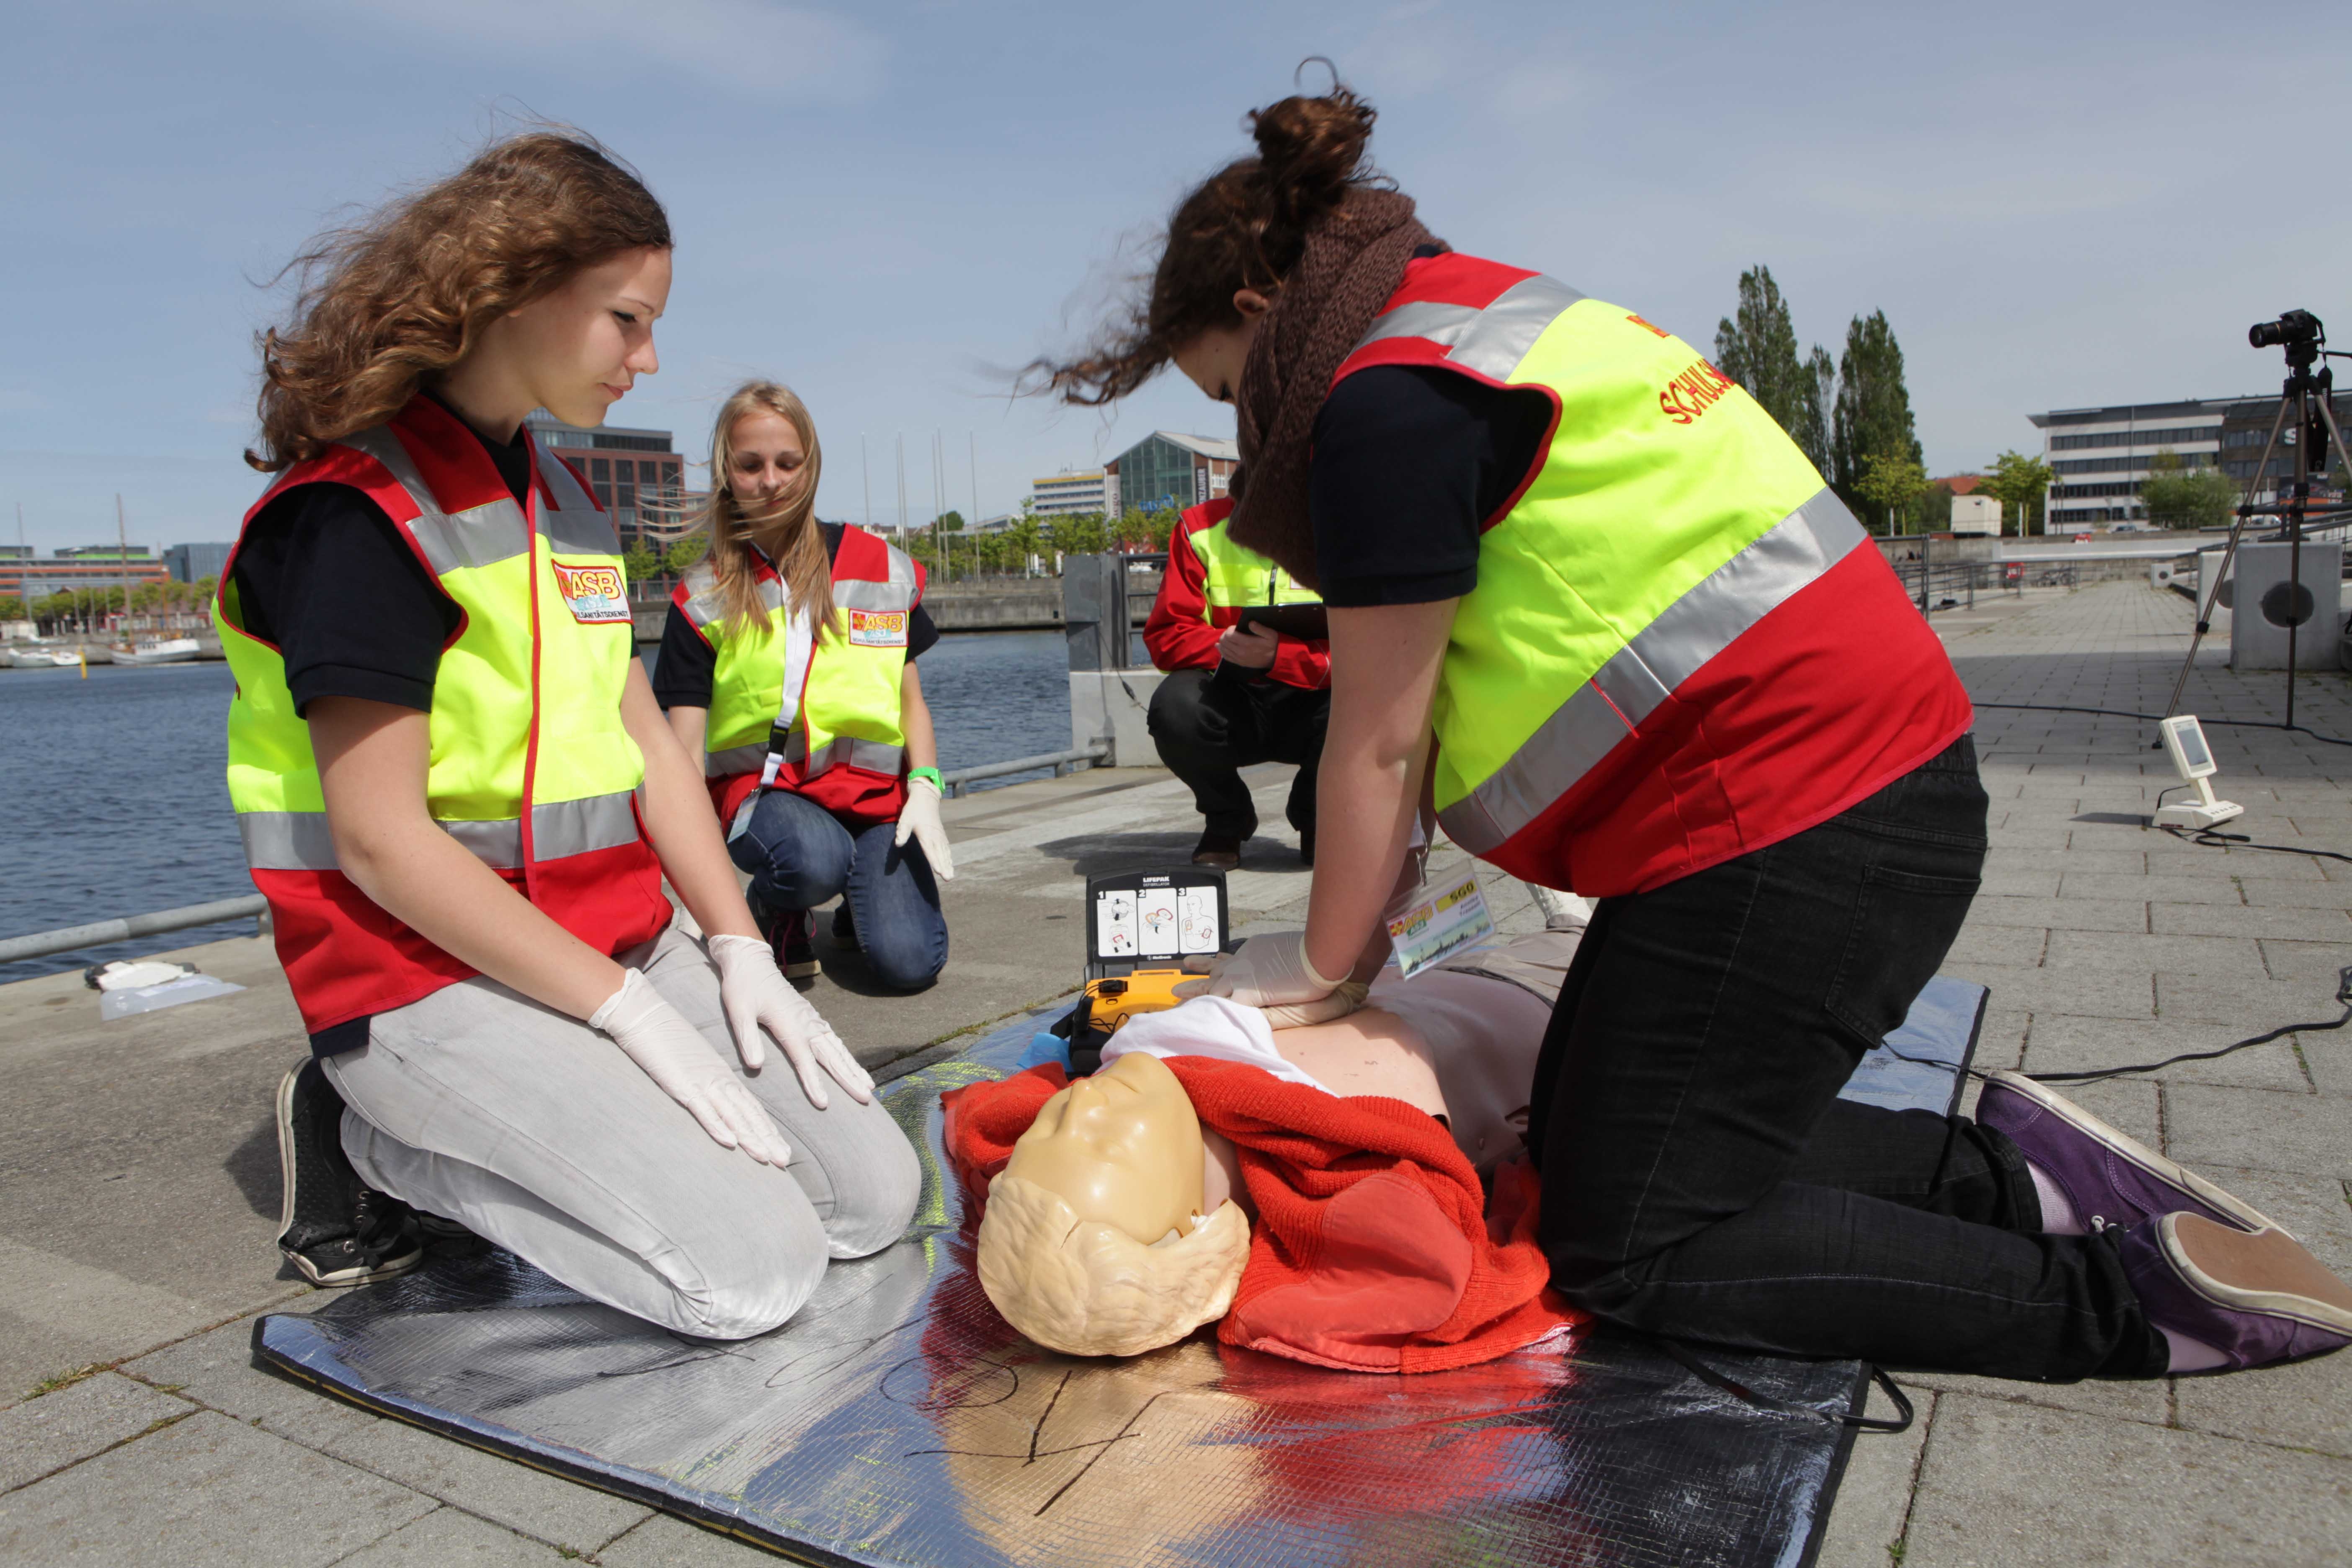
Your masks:
M1331 717L1327 642L1242 625L1249 604L1317 604L1275 562L1225 534L1232 501L1185 508L1169 538L1169 569L1143 623L1143 646L1167 679L1152 691L1148 724L1160 762L1192 788L1202 835L1192 865L1232 870L1258 809L1242 769L1296 762L1289 816L1298 858L1315 865L1315 769Z

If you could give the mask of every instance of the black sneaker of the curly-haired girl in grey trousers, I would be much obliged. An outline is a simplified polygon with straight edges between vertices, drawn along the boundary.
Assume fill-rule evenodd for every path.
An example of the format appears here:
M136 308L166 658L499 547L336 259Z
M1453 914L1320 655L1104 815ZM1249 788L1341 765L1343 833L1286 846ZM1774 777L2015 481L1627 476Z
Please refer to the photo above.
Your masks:
M278 1175L285 1208L278 1251L315 1286L365 1286L407 1274L423 1258L414 1213L362 1187L343 1154L343 1098L318 1058L278 1084Z

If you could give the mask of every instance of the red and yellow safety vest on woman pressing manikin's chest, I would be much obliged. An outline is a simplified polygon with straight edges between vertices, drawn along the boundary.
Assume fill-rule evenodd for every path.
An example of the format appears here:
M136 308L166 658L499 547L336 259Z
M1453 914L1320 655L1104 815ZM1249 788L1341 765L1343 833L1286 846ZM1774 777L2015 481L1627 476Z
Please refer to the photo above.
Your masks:
M1672 334L1444 254L1406 266L1334 386L1374 364L1555 409L1484 520L1439 675L1432 792L1463 849L1632 893L1828 820L1969 729L1969 693L1863 527Z

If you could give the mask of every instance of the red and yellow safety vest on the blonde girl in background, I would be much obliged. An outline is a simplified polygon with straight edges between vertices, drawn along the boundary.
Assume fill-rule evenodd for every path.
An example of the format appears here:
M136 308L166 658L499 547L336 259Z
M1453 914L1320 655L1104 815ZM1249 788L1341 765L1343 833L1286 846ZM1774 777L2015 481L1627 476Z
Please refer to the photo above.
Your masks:
M823 637L809 616L790 614L783 578L757 550L753 569L767 616L748 625L729 618L710 562L673 592L715 656L703 776L720 820L731 823L760 788L793 790L861 823L896 820L906 806L898 689L922 567L844 527Z

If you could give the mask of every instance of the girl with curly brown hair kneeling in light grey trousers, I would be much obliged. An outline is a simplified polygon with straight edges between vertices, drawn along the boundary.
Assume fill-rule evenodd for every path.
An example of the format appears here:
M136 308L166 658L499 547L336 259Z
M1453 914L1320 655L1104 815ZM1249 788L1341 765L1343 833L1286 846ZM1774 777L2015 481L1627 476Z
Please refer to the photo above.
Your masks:
M668 1328L764 1333L898 1237L917 1166L776 971L614 527L524 428L659 369L668 216L534 132L301 263L247 451L275 480L219 590L230 799L313 1048L278 1244L381 1279L414 1208Z

